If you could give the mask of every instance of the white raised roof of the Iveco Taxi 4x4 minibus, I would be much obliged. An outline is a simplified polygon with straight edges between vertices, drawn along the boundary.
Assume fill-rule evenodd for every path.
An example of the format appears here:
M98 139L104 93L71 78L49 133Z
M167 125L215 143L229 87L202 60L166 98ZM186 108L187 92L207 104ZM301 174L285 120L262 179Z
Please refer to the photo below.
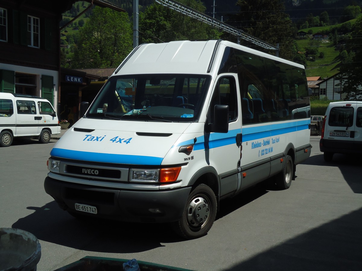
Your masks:
M210 66L216 43L219 44L218 48L230 46L304 69L302 65L226 40L180 40L168 43L141 44L126 57L121 65L115 70L114 74L205 74ZM216 60L215 63L212 63L214 68L216 67L217 69L221 61L221 56L218 55L218 57L219 62Z

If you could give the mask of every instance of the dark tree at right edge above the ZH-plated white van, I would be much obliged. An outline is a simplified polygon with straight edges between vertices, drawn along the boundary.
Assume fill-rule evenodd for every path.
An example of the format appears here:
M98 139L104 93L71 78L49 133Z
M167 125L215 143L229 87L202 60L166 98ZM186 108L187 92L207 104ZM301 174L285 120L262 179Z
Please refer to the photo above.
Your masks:
M346 99L357 99L362 95L362 17L359 17L354 24L352 31L353 39L349 39L346 48L348 55L344 52L341 57L345 57L341 64L340 72L346 80L342 83L342 93L346 93Z

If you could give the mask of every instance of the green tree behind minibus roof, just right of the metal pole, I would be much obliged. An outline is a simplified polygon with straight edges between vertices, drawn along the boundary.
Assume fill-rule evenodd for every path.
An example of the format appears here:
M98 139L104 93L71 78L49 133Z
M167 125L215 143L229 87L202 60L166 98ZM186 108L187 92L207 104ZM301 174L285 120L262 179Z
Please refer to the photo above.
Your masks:
M205 12L200 0L179 0L190 8ZM160 43L172 40L218 39L214 27L172 9L153 3L139 16L140 43Z

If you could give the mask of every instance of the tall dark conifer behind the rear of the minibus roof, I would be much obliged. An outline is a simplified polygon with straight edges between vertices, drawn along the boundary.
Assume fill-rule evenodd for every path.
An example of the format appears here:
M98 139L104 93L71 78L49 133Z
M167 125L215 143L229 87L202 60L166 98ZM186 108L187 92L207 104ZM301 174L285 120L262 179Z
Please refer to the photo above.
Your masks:
M279 56L294 58L292 41L296 32L281 0L238 0L236 5L239 12L230 17L230 25L270 44L279 43Z

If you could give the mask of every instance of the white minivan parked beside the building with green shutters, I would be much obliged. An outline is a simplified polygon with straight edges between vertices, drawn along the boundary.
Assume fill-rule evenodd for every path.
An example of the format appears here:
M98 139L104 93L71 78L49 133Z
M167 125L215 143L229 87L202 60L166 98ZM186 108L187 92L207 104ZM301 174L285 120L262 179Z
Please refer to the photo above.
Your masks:
M46 99L37 96L0 93L0 146L8 147L14 137L38 138L48 143L60 134L58 117Z

